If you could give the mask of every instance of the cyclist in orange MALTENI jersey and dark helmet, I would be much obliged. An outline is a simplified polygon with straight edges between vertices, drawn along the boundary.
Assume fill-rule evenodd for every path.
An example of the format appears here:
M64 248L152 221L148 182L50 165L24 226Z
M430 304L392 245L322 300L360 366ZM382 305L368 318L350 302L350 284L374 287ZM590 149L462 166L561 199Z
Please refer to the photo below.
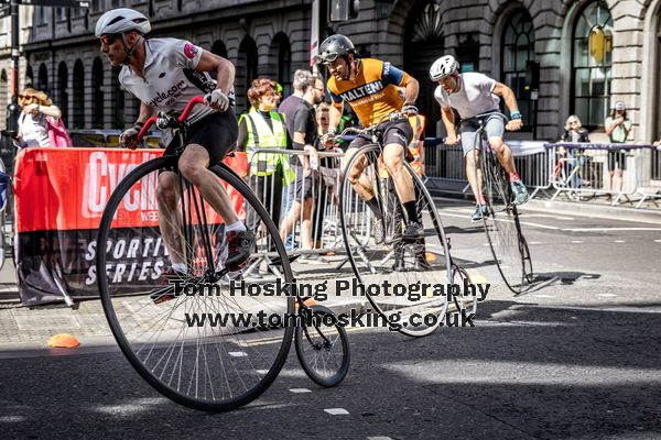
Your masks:
M317 62L328 67L332 74L327 88L333 106L330 107L329 129L324 143L332 143L336 135L344 102L351 106L362 127L379 123L384 117L392 113L418 114L415 108L418 81L390 63L358 57L354 44L345 35L336 34L326 38L319 47ZM399 87L404 88L404 99L398 94ZM415 208L413 180L404 168L407 148L413 131L407 119L387 120L380 124L380 129L383 133L383 163L407 212L408 221L402 238L407 242L413 242L424 237L424 230ZM356 138L347 150L347 161L358 148L368 144L371 144L370 139ZM361 178L367 178L362 175L367 165L367 161L360 161L346 172L356 193L372 212L380 217L381 209L378 206L378 198L375 197L369 185L360 184ZM424 257L419 260L418 268L424 270L427 266ZM395 266L397 264L398 261L395 261Z

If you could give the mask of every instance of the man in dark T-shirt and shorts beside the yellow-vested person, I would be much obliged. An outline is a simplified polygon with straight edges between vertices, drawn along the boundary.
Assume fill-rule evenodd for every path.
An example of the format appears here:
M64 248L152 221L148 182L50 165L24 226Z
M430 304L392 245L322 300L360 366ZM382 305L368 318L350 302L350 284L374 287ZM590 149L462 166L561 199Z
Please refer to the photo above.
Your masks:
M294 110L293 118L293 146L294 150L302 150L306 155L292 157L301 165L292 164L296 170L295 199L292 208L280 226L280 235L285 241L288 235L294 229L296 221L301 219L301 249L312 249L312 212L314 210L314 200L316 198L318 156L315 147L317 140L317 124L314 111L314 105L318 105L324 99L324 82L310 77L303 88L303 102ZM310 261L305 255L299 261Z

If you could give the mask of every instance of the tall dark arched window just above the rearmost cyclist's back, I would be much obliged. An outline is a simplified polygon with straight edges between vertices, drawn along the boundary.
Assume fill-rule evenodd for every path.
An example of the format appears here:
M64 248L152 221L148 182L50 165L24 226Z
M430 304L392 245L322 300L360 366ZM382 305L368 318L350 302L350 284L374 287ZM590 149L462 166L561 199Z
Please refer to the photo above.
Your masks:
M519 111L523 116L523 130L532 130L532 101L525 89L525 63L534 59L534 30L532 18L525 10L516 11L502 34L502 82L514 91Z

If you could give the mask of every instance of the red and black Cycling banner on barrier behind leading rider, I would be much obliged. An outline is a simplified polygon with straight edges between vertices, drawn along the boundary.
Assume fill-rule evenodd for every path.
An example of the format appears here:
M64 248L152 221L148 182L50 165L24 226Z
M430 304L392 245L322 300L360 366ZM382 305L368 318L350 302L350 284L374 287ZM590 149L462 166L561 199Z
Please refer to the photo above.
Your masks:
M106 204L122 178L162 152L37 147L17 155L15 251L23 304L62 301L65 294L79 298L98 295L93 256ZM225 162L239 175L247 174L245 154ZM158 231L156 180L154 173L131 188L120 202L113 228L144 228L145 237ZM242 197L234 190L229 196L243 219ZM210 209L207 221L223 222Z

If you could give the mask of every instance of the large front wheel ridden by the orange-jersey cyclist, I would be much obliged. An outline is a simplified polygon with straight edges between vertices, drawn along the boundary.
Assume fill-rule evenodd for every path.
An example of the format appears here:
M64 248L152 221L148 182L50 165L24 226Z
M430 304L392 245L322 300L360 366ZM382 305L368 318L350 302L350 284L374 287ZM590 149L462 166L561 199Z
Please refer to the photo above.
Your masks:
M380 153L379 145L365 146L345 166L340 187L343 237L361 293L376 311L391 328L421 337L445 319L452 283L447 239L430 193L404 163L424 230L423 237L404 240L404 228L414 219L408 218ZM358 173L360 168L362 173Z

